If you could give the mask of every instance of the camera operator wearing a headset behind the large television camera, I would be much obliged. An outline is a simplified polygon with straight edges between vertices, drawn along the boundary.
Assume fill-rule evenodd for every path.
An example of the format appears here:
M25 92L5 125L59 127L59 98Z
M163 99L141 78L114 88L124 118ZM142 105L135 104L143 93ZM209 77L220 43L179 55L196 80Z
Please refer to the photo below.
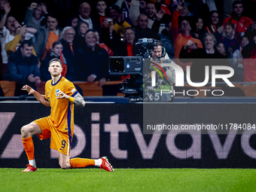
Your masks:
M159 69L154 63L174 63L169 59L166 50L163 47L161 41L154 42L154 48L151 50L151 62L153 63L154 68ZM175 64L175 63L174 63ZM166 72L166 78L161 78L160 75L156 74L156 87L148 87L148 101L149 102L169 102L171 101L171 93L164 93L160 95L160 90L173 90L173 84L175 83L175 70L172 67L163 67L164 72ZM165 75L163 75L165 77Z

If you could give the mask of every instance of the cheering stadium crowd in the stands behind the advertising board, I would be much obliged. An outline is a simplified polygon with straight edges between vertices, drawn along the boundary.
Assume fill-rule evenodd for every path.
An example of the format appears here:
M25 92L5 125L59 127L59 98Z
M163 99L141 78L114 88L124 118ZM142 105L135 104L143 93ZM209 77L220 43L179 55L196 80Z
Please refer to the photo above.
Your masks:
M69 81L102 86L117 79L108 57L133 56L139 38L162 41L170 59L191 66L191 80L204 80L204 65L186 59L200 58L227 61L205 65L232 67L233 81L256 81L255 8L255 0L0 0L0 81L36 88L59 58Z

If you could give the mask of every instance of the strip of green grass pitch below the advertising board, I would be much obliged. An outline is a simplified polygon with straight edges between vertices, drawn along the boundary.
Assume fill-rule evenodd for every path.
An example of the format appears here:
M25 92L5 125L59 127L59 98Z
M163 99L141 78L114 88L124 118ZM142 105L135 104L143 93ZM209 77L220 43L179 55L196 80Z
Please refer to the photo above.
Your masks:
M0 169L0 191L256 191L255 169Z

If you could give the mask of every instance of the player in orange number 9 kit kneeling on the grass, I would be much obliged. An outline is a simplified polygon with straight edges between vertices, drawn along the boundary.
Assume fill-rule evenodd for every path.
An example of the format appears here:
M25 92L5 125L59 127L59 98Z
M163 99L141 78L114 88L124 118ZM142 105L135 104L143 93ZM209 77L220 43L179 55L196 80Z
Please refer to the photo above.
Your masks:
M84 98L75 89L74 84L61 76L62 62L59 59L52 59L49 62L51 80L45 84L45 95L33 90L28 85L23 87L30 94L33 94L41 104L50 106L51 113L21 128L21 136L29 165L23 172L35 172L34 144L32 135L38 135L39 139L50 140L50 148L59 151L59 166L62 169L73 169L85 166L99 166L108 172L114 169L106 157L98 160L83 158L69 159L72 137L74 133L74 104L84 107Z

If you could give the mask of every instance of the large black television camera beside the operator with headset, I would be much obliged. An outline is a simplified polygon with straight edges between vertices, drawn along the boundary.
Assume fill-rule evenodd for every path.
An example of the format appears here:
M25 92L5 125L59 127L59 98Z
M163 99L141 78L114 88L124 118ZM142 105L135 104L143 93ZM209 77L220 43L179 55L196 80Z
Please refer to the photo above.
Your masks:
M153 38L139 38L135 46L135 56L109 57L109 75L126 76L119 84L119 89L125 94L125 97L129 98L130 102L148 102L152 100L150 96L152 97L154 88L152 90L151 87L151 50L154 50L154 47L158 46L157 44L163 47L161 41ZM165 54L165 50L162 50L162 56ZM157 81L157 86L167 82L167 80Z

